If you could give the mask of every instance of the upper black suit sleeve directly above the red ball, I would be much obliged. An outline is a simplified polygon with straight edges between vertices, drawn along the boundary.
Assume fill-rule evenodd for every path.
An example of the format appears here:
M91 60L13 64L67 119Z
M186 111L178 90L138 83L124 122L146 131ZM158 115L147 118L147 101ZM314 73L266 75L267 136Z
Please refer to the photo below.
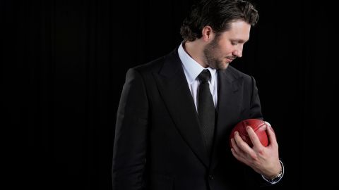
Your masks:
M252 76L251 76L251 103L249 118L263 120L263 114L261 113L261 104L258 95L258 88L256 87L256 80Z

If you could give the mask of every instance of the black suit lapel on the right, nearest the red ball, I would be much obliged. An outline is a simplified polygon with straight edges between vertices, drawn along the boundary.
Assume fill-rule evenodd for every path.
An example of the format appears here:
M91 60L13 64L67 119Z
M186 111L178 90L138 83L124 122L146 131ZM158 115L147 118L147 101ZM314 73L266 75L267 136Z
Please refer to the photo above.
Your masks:
M232 126L232 121L237 120L239 117L240 109L240 101L242 99L241 94L239 94L239 88L242 85L242 77L236 77L227 70L218 70L218 114L217 114L217 122L215 125L215 142L213 144L213 154L212 154L212 169L218 163L218 151L225 149L224 151L228 151L225 147L225 143L221 141L225 141L225 138L228 140L229 130L227 126ZM222 148L218 148L217 146L222 146ZM216 151L218 150L218 151Z

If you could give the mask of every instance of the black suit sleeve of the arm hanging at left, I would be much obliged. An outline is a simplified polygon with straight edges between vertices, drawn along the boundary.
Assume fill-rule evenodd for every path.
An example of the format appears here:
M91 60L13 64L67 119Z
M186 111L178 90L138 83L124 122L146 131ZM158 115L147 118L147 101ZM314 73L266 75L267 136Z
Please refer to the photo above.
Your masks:
M148 139L148 98L141 74L130 69L121 92L115 128L113 189L144 189Z

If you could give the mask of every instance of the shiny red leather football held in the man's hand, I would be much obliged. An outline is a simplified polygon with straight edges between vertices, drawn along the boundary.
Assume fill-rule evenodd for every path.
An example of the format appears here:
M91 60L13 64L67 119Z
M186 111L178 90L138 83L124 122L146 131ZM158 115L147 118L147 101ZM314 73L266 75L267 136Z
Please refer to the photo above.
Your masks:
M266 127L268 127L268 122L264 122L263 120L258 119L247 119L242 120L241 122L238 122L237 125L232 129L231 135L230 135L230 146L232 148L231 139L234 137L234 132L239 132L240 137L249 144L249 146L253 146L251 139L249 139L249 134L246 132L246 126L251 126L252 129L254 129L254 132L256 132L256 135L259 137L259 140L261 141L261 144L263 146L268 146L268 136L266 134Z

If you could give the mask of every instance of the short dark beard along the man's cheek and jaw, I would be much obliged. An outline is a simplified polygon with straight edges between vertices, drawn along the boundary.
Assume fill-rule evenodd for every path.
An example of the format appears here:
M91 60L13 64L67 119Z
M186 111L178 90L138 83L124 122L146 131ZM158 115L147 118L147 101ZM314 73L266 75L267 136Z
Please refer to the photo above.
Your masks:
M205 56L206 65L216 70L227 69L229 63L223 63L222 60L218 59L218 36L216 36L210 44L207 44L203 49L203 55Z

